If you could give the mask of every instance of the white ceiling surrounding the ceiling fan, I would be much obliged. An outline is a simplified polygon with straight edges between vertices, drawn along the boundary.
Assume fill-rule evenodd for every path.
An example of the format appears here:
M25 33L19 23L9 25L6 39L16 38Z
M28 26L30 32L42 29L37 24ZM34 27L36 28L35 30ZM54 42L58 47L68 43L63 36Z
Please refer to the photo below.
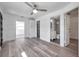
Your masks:
M30 15L30 13L32 12L32 8L30 8L24 2L0 2L0 7L3 9L3 11L6 11L8 13L17 14L20 16L38 18L45 14L59 10L70 4L69 2L33 2L33 3L36 4L38 8L47 9L48 11L38 12L37 14Z

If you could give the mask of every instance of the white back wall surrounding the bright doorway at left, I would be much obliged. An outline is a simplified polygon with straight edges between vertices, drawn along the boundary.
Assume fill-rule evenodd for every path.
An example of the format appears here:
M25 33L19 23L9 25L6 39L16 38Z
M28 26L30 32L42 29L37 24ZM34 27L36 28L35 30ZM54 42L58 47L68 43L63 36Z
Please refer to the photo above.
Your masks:
M6 12L2 12L3 15L3 41L9 41L9 40L15 40L16 39L16 21L24 21L25 23L25 37L36 37L35 35L35 22L33 24L33 27L31 28L31 32L29 32L29 19L26 17L20 17L17 15L9 14ZM33 30L33 31L32 31ZM30 33L30 35L29 35Z

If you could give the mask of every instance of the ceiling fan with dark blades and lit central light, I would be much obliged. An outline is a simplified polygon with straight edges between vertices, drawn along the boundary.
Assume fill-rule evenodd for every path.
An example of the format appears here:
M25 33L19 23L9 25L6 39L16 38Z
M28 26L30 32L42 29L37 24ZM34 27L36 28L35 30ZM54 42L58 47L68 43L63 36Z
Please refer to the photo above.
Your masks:
M33 9L33 11L31 12L31 15L37 13L38 11L47 12L46 9L38 9L38 6L32 2L31 4L29 2L25 2L25 3Z

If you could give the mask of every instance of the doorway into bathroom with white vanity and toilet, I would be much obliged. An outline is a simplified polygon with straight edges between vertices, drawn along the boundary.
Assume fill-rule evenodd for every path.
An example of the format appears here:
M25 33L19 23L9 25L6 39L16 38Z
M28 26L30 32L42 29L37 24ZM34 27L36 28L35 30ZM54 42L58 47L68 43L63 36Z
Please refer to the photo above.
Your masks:
M60 16L50 19L50 41L60 44Z

